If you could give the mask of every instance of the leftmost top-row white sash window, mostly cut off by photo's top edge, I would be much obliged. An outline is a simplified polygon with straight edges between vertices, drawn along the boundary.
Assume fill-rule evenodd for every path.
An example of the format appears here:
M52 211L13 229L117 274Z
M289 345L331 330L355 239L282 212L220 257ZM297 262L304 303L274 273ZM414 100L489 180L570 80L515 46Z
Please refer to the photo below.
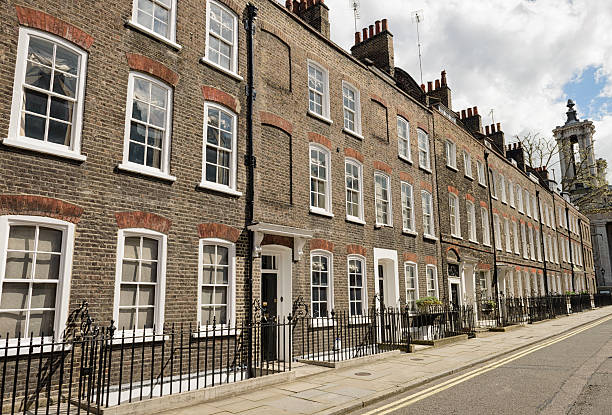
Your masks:
M176 0L134 0L132 22L156 38L175 41Z

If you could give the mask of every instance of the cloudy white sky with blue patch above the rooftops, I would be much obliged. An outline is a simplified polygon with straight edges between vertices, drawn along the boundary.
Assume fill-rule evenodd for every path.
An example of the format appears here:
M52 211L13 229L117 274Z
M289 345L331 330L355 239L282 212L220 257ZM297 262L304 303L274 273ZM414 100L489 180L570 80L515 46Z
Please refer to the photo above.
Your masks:
M352 0L325 0L331 38L354 43ZM284 3L284 1L282 1ZM500 122L506 142L566 120L568 98L581 120L595 123L595 155L608 160L612 183L611 0L360 0L357 29L387 18L395 66L420 83L414 11L423 81L447 72L453 110L478 106L483 124ZM554 166L558 167L558 166ZM557 178L558 172L557 172Z

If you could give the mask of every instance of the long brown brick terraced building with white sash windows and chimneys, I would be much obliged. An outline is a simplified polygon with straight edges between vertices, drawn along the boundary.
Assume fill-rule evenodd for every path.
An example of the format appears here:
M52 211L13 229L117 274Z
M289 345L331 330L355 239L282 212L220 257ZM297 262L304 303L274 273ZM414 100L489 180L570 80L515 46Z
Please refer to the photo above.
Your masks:
M281 318L593 291L588 219L444 72L396 68L386 20L349 53L322 1L254 3L252 223L246 1L2 9L1 333L61 332L83 300L119 328L232 325L249 232Z

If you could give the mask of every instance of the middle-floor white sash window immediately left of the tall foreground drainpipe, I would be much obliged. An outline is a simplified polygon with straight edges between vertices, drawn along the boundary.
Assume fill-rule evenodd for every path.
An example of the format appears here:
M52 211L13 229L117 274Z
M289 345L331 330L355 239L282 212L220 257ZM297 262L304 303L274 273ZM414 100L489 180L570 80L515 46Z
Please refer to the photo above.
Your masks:
M204 120L200 186L236 193L236 114L206 102Z

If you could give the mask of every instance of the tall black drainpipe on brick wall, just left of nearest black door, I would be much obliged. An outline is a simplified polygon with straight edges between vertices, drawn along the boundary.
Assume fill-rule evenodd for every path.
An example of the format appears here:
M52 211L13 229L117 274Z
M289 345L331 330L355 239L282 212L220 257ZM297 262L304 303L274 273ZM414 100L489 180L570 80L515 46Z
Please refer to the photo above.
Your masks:
M255 216L255 156L253 155L253 101L255 100L255 89L253 87L253 37L255 36L255 19L257 19L257 7L249 3L246 7L244 17L244 29L247 40L247 107L246 107L246 155L247 166L247 194L246 194L246 228L249 239L247 247L246 280L247 280L247 321L248 321L248 353L247 353L247 377L253 372L253 231L248 226L253 223Z

